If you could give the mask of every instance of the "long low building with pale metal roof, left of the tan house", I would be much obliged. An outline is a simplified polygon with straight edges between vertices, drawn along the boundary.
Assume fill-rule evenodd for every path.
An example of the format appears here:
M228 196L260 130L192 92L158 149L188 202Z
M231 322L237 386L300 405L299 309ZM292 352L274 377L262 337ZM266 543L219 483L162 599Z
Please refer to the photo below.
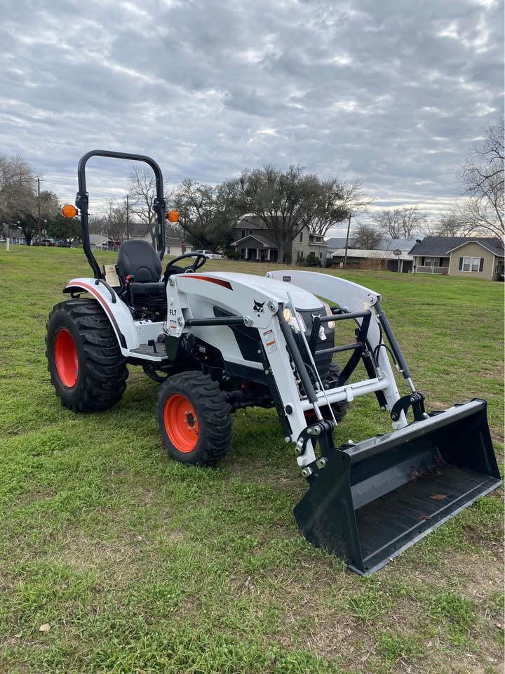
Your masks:
M414 244L415 239L382 239L377 249L374 250L348 247L347 266L356 265L365 269L389 270L405 274L412 271L414 258L409 251ZM344 257L344 246L332 253L334 262L343 262Z

